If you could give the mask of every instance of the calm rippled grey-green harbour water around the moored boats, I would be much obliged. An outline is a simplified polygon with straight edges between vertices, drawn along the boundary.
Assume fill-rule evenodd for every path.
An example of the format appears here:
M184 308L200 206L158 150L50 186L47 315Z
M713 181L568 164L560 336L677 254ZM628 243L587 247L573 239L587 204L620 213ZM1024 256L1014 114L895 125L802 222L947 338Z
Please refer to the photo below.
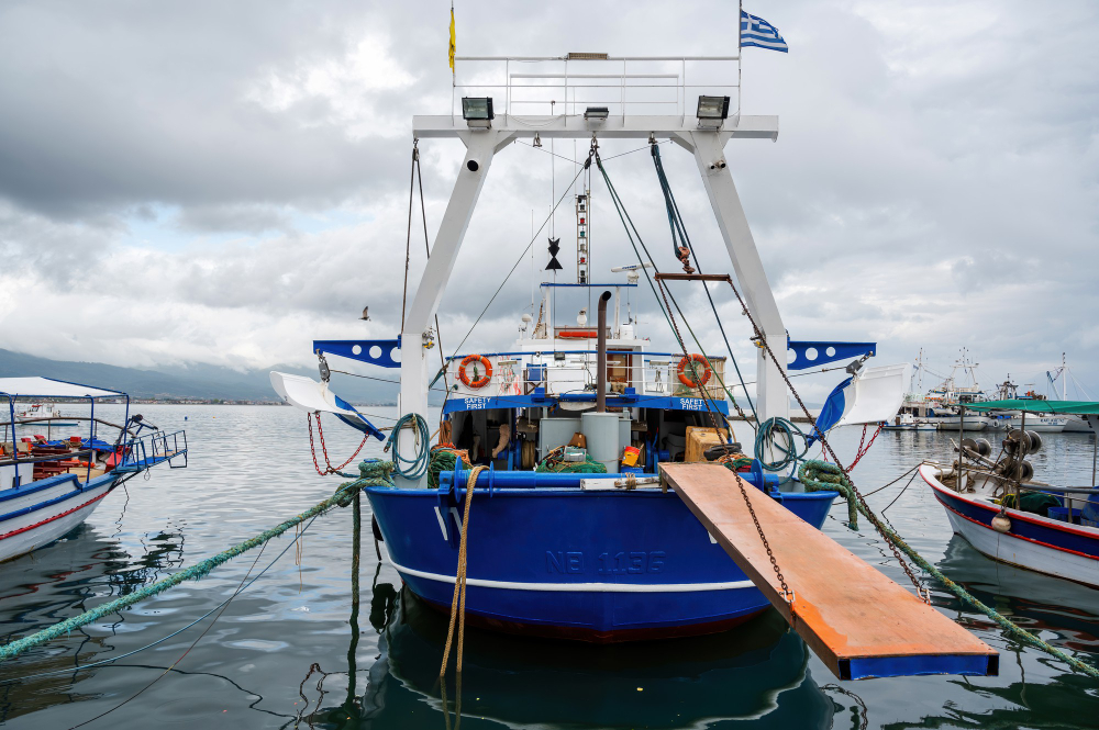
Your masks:
M108 408L104 408L107 411ZM315 504L340 483L313 471L304 417L287 407L141 406L186 428L190 465L115 491L57 543L0 565L4 641L192 565ZM392 416L391 409L374 408ZM121 414L110 413L107 417ZM185 420L186 418L186 420ZM386 423L382 420L381 423ZM326 431L335 461L357 445ZM850 458L859 431L834 442ZM375 442L377 443L377 442ZM939 434L881 434L854 472L864 492L923 458ZM364 452L377 456L374 443ZM1090 483L1092 440L1046 438L1053 482ZM993 563L951 534L942 508L906 480L869 498L909 542L986 604L1061 649L1099 663L1099 591ZM364 525L369 506L363 501ZM873 529L825 531L893 580L906 577ZM443 728L436 675L445 619L401 591L362 550L362 608L351 596L352 514L337 509L71 636L0 664L0 721L11 728ZM289 549L288 549L289 548ZM286 550L279 558L279 554ZM382 548L382 554L385 554ZM277 559L277 560L276 560ZM269 565L269 568L268 568ZM118 662L88 670L196 626ZM1000 676L839 682L774 611L715 637L618 647L466 638L466 728L1096 728L1099 684L1007 638L931 583L935 605L1001 652ZM48 676L35 676L48 674ZM454 688L448 696L453 700Z

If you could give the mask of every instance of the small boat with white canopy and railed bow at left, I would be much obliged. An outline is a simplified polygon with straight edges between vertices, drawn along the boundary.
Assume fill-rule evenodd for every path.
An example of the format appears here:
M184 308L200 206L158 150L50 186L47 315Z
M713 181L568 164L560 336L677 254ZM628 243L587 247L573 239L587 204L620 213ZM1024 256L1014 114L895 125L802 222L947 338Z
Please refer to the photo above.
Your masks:
M156 464L187 465L187 435L165 434L140 415L130 416L125 393L49 378L0 378L0 397L8 402L8 423L0 423L0 562L37 550L64 537L95 512L123 482ZM29 398L85 402L87 437L60 440L33 436L38 425L23 424L16 404ZM122 425L96 417L100 400L123 400ZM108 442L103 427L116 429Z

